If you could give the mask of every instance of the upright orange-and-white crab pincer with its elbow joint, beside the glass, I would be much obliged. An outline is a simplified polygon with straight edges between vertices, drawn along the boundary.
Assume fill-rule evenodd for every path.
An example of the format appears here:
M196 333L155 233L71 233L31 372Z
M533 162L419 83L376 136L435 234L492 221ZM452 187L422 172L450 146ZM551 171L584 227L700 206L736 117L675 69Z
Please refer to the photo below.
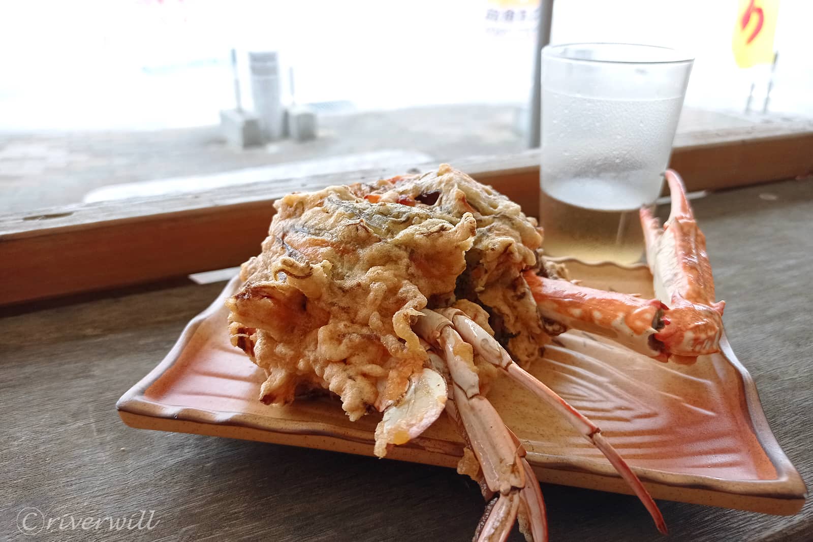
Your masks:
M669 307L663 314L666 326L654 338L673 361L693 362L702 354L720 351L725 302L715 302L706 236L694 219L683 181L671 169L666 180L672 209L663 229L648 208L641 208L655 295Z

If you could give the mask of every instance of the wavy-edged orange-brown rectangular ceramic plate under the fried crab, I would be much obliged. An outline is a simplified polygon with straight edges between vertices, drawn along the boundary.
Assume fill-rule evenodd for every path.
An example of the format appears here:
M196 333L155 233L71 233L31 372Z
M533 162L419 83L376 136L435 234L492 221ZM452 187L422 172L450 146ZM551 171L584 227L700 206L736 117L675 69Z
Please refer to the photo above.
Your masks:
M652 296L645 266L569 260L574 278L597 288ZM350 422L338 401L263 405L263 372L229 344L224 306L235 278L193 319L159 366L118 402L132 427L261 440L372 456L380 415ZM728 340L691 366L660 363L584 332L567 332L531 372L593 422L655 498L768 514L793 514L805 486L776 443L754 382ZM489 392L523 441L543 482L628 493L608 462L546 405L508 379ZM441 416L420 438L388 457L455 466L460 437Z

